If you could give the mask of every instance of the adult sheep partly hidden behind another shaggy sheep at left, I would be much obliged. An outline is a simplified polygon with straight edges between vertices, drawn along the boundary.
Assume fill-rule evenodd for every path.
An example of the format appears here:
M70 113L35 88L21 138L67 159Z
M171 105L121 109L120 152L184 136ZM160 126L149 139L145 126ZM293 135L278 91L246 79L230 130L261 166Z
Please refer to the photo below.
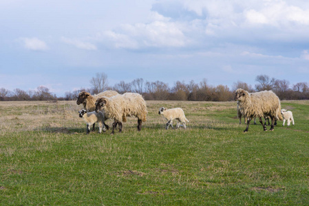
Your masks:
M97 95L91 95L89 92L86 91L81 91L80 93L78 93L78 97L76 104L83 104L83 108L87 111L87 112L92 112L96 110L96 99L106 96L106 97L112 97L114 95L118 95L117 91L112 91L112 90L107 90L107 91L103 91L101 93L98 93ZM105 117L105 120L107 120L107 118ZM109 126L107 124L104 123L104 126L109 129ZM94 130L94 128L92 129Z

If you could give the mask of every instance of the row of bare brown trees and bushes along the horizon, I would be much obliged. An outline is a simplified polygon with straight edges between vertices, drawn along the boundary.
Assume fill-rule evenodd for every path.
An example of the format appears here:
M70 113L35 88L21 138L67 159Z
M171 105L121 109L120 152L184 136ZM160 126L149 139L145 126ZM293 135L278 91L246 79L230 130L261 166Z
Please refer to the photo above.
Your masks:
M177 81L173 87L165 82L148 82L142 78L137 78L132 82L120 81L113 87L108 85L107 75L105 73L96 73L89 82L91 88L82 88L75 91L67 91L63 97L57 97L46 87L38 87L36 91L23 91L14 89L0 89L0 101L22 101L22 100L76 100L78 93L87 91L95 94L105 90L114 90L118 93L136 92L144 96L145 100L189 100L189 101L215 101L225 102L234 100L236 89L242 88L249 92L264 90L274 91L280 100L309 100L308 82L299 82L290 85L288 80L277 80L267 75L259 75L255 78L257 82L254 87L246 82L237 81L233 83L232 88L220 84L211 86L204 79L195 83L191 80L188 84L184 81Z

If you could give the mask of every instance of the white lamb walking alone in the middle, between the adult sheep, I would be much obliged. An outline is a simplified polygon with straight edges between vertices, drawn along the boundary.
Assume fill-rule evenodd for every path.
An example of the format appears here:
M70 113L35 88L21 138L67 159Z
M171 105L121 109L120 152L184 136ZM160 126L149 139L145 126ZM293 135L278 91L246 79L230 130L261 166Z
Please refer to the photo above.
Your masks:
M163 115L165 119L167 119L167 126L165 127L166 129L168 129L169 126L171 126L171 128L173 129L173 119L178 120L176 128L179 128L179 126L183 126L183 128L185 129L186 122L189 122L189 120L184 115L184 111L182 110L182 108L167 109L167 108L161 107L159 109L159 115ZM182 125L180 123L182 123Z

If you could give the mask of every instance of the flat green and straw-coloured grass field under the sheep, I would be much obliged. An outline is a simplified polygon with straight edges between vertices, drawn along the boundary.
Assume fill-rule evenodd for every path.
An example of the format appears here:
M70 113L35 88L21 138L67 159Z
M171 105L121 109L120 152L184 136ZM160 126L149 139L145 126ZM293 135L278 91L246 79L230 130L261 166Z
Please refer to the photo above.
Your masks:
M236 102L147 101L142 131L86 135L75 101L0 102L0 205L308 205L309 101L281 106L295 126L243 133Z

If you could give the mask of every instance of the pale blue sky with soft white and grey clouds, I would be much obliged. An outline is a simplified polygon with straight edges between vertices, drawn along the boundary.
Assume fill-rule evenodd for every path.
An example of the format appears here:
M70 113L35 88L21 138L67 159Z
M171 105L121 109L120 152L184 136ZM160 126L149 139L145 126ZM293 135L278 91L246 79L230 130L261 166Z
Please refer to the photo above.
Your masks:
M309 82L306 0L0 0L0 88Z

